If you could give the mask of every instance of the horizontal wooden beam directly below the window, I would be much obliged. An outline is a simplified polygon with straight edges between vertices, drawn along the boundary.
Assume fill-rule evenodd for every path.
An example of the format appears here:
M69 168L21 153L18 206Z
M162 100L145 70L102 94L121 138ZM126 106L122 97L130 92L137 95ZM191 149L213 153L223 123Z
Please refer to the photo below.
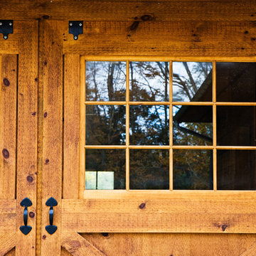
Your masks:
M122 192L63 200L63 231L256 233L256 194L246 191ZM109 194L111 194L109 192ZM93 193L91 193L93 195Z

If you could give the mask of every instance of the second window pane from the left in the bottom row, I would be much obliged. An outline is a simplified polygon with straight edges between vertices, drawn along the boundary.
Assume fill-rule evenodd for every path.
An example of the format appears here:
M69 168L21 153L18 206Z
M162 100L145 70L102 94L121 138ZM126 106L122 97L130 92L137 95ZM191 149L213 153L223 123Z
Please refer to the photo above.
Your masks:
M169 189L169 150L131 149L130 188Z

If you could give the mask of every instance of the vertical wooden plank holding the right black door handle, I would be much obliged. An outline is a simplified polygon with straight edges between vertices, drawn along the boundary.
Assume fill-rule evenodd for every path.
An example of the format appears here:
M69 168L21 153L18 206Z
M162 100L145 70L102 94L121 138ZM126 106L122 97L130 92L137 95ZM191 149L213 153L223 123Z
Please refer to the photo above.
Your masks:
M63 171L63 48L58 22L39 22L39 68L43 87L43 182L41 255L60 255L61 198ZM49 235L48 198L58 201L54 208L53 224L58 230Z

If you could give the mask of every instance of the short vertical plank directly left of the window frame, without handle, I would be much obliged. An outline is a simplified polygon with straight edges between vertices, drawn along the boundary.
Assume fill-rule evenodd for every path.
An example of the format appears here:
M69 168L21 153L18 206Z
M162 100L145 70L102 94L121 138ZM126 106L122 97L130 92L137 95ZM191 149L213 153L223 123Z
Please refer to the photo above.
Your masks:
M63 198L79 196L80 55L64 60Z

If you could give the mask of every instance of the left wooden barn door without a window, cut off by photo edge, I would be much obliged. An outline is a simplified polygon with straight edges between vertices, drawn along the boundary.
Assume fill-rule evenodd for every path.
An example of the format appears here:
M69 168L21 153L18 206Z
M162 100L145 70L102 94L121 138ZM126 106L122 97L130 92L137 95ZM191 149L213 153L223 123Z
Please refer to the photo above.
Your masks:
M0 23L0 255L36 255L38 23Z

